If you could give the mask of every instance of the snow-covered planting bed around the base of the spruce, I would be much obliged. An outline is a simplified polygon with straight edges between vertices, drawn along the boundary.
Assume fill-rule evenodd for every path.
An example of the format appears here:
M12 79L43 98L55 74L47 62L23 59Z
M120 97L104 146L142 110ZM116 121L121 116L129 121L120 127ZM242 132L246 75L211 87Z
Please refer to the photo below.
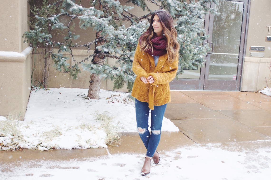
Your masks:
M8 125L17 127L16 137L14 132L7 131L0 137L2 149L12 149L14 144L19 149L38 150L107 147L107 135L94 118L97 111L107 111L113 116L112 124L119 132L136 131L134 101L128 97L129 93L100 90L99 100L88 99L87 93L88 89L77 88L32 90L24 121ZM0 117L1 120L4 122L5 118ZM179 128L164 117L162 131L179 131Z

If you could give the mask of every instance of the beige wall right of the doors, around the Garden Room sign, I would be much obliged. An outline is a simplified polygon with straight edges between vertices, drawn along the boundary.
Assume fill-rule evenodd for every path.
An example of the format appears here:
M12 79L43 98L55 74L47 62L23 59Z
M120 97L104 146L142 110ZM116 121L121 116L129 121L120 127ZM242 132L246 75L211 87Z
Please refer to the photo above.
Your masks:
M271 62L271 42L265 41L266 36L271 36L266 27L271 26L270 1L257 0L250 3L241 91L259 91L266 86L271 87L270 69L268 68ZM265 50L264 52L250 51L250 46L263 46ZM264 53L264 57L251 56L251 52Z

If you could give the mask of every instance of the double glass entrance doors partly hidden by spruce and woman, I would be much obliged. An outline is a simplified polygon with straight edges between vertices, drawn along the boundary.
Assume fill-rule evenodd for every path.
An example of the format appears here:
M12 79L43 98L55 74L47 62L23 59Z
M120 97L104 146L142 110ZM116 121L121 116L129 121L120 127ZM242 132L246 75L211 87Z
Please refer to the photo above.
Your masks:
M240 90L248 0L217 0L210 4L218 15L205 15L204 28L212 51L204 67L184 70L171 90Z

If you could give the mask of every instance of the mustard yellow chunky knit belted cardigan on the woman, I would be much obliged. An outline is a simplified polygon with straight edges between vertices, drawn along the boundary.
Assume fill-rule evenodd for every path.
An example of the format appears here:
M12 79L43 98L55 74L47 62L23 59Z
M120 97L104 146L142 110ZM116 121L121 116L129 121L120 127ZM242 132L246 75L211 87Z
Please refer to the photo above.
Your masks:
M172 63L168 61L167 53L159 56L155 66L153 56L140 51L138 43L133 61L135 78L131 95L141 102L149 103L149 108L161 106L170 102L169 82L172 81L178 70L178 59ZM152 76L153 83L145 84L140 77Z

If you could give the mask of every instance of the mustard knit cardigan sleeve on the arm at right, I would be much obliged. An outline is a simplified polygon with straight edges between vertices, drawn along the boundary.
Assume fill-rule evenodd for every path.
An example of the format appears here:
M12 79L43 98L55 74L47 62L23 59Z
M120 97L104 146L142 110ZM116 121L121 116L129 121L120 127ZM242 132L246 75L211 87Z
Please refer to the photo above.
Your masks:
M149 73L148 76L153 77L154 82L152 83L152 85L154 86L157 84L167 84L175 78L177 70L178 60L175 60L170 64L169 71L163 73Z

